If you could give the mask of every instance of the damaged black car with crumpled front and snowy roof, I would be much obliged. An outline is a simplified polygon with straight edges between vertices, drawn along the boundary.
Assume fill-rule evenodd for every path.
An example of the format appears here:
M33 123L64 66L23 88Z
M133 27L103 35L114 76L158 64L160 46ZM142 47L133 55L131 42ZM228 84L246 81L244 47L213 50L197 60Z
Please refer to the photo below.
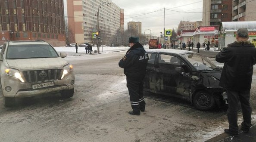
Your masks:
M144 91L190 101L202 111L227 104L219 86L222 68L196 52L150 49Z

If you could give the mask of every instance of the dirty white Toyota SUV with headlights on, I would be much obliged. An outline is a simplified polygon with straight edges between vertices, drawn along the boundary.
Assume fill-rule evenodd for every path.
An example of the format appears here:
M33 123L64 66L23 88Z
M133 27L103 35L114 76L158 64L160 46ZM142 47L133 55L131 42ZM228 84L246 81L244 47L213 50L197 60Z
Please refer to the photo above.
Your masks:
M73 66L44 41L8 41L0 52L0 80L3 102L13 105L15 98L60 92L74 95Z

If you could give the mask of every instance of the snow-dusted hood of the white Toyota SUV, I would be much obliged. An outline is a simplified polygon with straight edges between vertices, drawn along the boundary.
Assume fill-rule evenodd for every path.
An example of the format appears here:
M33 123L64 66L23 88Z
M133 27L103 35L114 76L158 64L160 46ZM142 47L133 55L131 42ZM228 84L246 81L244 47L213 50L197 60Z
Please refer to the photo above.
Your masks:
M68 62L61 57L58 58L39 58L39 59L7 59L9 68L19 70L40 69L40 68L62 68Z

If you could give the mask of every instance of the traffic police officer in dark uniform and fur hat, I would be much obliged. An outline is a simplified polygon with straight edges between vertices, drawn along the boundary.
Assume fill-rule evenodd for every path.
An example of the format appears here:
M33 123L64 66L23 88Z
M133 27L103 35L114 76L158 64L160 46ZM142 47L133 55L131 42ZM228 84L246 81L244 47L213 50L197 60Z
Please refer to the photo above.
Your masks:
M119 67L124 68L130 95L132 111L128 113L140 115L140 111L145 111L146 105L143 96L143 86L148 55L139 43L139 37L130 37L129 43L131 47L126 52L124 58L119 61Z

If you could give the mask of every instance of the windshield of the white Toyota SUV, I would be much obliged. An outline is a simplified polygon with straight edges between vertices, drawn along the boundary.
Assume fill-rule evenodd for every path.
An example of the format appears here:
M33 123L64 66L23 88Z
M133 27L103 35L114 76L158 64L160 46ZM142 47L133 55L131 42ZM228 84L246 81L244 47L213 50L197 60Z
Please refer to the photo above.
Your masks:
M9 45L6 59L56 58L57 52L50 45Z

